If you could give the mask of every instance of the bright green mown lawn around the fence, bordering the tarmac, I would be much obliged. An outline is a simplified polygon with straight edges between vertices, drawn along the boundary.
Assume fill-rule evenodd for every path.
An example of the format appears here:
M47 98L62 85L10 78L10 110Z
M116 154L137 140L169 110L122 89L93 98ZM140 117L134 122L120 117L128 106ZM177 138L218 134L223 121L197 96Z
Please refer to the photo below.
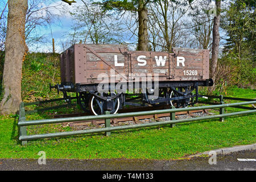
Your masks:
M256 98L255 90L251 89L229 88L228 95ZM229 108L226 111L240 110ZM27 115L27 119L48 118L49 113ZM162 126L115 131L111 137L100 133L34 140L27 146L20 145L17 121L17 115L0 116L0 158L38 158L38 152L45 151L47 158L55 159L178 159L197 152L256 141L255 114L225 118L225 122L212 119L180 123L174 128ZM61 125L39 125L29 127L28 134L70 130Z

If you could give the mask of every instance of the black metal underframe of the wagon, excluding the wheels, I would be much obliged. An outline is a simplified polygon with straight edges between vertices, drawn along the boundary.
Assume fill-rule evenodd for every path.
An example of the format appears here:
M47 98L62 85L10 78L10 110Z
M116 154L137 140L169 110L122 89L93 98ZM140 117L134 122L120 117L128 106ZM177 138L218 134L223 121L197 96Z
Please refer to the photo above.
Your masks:
M115 86L117 84L118 83L105 84L102 86L102 89L113 90L113 86ZM154 85L155 85L154 82L152 82L150 85L147 85L147 82L124 82L123 84L126 84L126 88L129 88L129 86L132 86L132 88L135 88L135 86L137 86L137 87L139 86L139 88L137 88L137 89L145 89L144 88L145 85L146 85L146 87L154 89ZM65 82L65 83L61 83L60 85L59 84L57 84L55 86L50 85L50 89L56 88L58 93L59 93L59 91L63 92L64 98L66 101L68 101L68 103L70 102L70 100L69 100L69 96L67 95L67 92L89 93L96 98L96 102L103 101L102 106L99 104L101 111L103 111L103 110L113 110L114 106L116 104L116 102L114 102L113 100L117 97L121 98L121 107L125 106L125 105L132 105L132 106L146 106L148 104L155 105L155 104L163 104L164 102L166 104L170 104L170 101L174 101L174 100L176 100L177 103L180 105L181 100L185 100L188 98L192 99L195 97L196 99L193 100L193 102L189 103L189 104L193 105L196 102L198 102L198 98L200 97L198 94L198 87L199 86L212 86L213 81L212 81L212 79L200 80L200 81L159 81L157 84L158 84L159 89L162 89L165 91L164 93L166 94L166 96L164 96L164 97L159 96L155 100L150 100L150 99L148 99L148 95L146 93L133 94L135 96L138 96L138 98L141 98L142 104L129 102L132 99L130 99L129 101L126 101L126 99L125 99L126 94L123 94L123 93L121 93L121 94L119 93L119 94L116 94L115 96L110 96L110 97L99 96L97 94L98 93L98 90L97 90L98 84L76 84L76 85L73 85L72 82ZM104 86L108 86L108 88L104 88ZM182 92L181 89L176 90L176 88L189 88L189 87L191 87L192 89L185 90L185 92ZM176 93L176 95L179 97L172 97L172 98L168 97L167 88L170 88L171 90L173 90ZM122 89L122 85L121 85L120 89ZM195 94L195 96L191 96L191 92L194 89L196 90L196 94ZM129 95L131 95L131 94L129 94ZM78 104L79 104L79 102L78 102Z

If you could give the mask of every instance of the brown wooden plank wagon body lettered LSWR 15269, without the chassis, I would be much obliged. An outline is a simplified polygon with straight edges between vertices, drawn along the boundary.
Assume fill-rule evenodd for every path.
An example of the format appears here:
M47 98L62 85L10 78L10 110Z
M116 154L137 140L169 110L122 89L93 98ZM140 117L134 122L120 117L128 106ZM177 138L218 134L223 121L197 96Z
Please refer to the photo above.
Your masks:
M61 53L61 83L98 84L100 74L116 78L115 82L130 82L149 74L168 82L209 79L208 49L173 48L172 52L128 51L127 46L115 44L75 44Z

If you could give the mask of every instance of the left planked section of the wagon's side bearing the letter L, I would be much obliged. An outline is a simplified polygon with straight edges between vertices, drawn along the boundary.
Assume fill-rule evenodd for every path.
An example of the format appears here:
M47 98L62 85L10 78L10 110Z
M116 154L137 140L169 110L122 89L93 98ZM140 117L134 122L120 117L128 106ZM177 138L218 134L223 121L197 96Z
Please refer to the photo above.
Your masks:
M98 84L102 82L101 78L109 82L126 81L126 46L82 44L82 47L86 50L86 79L80 82Z

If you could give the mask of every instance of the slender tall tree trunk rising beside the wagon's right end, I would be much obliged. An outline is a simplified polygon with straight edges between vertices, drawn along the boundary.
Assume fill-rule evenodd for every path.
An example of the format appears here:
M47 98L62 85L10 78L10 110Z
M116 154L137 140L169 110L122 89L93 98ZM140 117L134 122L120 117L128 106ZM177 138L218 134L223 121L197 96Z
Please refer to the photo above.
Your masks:
M218 27L220 26L220 8L221 8L221 0L215 0L217 14L214 16L213 22L213 43L212 43L212 60L210 61L210 78L215 81L216 78L216 68L218 61L218 46L220 45L220 33L218 32Z

